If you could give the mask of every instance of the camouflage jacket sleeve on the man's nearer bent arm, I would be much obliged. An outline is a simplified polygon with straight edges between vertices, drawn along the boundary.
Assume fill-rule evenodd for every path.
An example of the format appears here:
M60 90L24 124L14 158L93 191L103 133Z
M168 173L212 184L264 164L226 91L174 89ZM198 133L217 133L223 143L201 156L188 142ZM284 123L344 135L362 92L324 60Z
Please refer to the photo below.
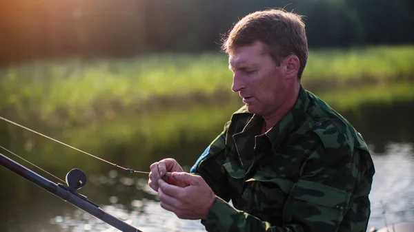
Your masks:
M354 207L353 192L361 173L358 168L359 152L346 144L331 143L317 134L315 147L309 151L283 209L283 224L272 225L253 215L239 211L217 197L206 220L201 223L207 231L277 231L277 232L334 232L342 230L344 216ZM334 140L332 140L334 139ZM370 183L364 183L371 188ZM368 191L369 192L369 191ZM367 195L366 195L367 196ZM366 204L369 202L362 202ZM364 205L359 206L364 207ZM366 230L369 215L359 217L359 226ZM356 230L355 230L356 231ZM357 231L364 231L363 229Z

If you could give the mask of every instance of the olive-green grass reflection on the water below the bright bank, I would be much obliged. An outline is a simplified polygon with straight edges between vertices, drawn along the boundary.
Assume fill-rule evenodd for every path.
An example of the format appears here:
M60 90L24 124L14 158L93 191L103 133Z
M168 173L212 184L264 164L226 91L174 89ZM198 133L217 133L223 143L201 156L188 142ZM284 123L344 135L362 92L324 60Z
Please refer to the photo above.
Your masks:
M414 89L413 82L363 86L353 90L335 89L318 96L347 119L351 119L358 129L364 131L364 136L368 139L375 140L378 136L372 125L375 122L371 118L373 116L384 117L385 122L390 118L397 118L396 124L386 123L388 129L385 131L391 132L382 137L412 138L411 131L407 130L410 128L411 118L406 116L410 115L406 114L410 108L402 107L400 111L393 112L394 103L413 103L414 92L411 89ZM188 109L154 109L141 114L121 112L113 118L103 117L82 123L81 126L74 124L72 120L60 120L61 125L55 125L49 121L11 119L95 156L117 160L119 165L134 164L135 168L146 170L151 162L166 156L184 160L186 164L194 162L197 154L201 154L206 145L221 132L224 123L241 105L223 103ZM406 105L409 107L409 103ZM393 116L384 116L389 114ZM376 122L378 128L384 128L381 119L376 119ZM92 158L78 151L3 121L0 121L0 145L28 160L36 160L35 163L41 167L51 166L48 167L50 171L67 170L64 168L67 165L84 169L108 167L107 164L93 162ZM50 165L53 160L59 162Z

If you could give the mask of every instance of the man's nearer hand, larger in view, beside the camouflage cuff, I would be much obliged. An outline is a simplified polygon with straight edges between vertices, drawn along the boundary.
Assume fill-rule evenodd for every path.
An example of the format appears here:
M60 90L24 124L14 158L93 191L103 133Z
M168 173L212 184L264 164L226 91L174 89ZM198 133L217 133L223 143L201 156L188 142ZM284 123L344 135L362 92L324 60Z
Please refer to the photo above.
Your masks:
M172 211L181 219L206 219L216 196L204 179L186 172L174 172L168 176L175 182L186 183L186 187L158 180L161 207Z

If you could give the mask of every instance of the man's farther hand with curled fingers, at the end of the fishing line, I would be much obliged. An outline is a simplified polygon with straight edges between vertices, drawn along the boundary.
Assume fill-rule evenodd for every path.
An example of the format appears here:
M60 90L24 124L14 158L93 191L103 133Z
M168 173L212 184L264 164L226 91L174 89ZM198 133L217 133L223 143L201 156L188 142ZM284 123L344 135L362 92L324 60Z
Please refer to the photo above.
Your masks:
M164 175L167 172L181 172L183 168L178 164L178 162L173 158L166 158L164 160L160 160L159 162L155 162L150 165L150 174L148 175L148 184L150 185L151 189L158 191L158 180L164 178ZM168 180L167 180L168 181ZM170 181L168 181L170 182ZM172 184L181 186L178 182L171 182Z

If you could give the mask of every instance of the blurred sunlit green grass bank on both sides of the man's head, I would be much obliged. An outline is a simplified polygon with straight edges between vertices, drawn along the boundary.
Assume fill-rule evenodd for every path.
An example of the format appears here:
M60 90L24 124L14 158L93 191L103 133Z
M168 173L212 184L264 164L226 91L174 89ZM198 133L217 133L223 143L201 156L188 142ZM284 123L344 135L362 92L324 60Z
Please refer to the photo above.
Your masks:
M303 83L317 93L399 83L413 80L413 63L413 45L312 50ZM0 113L56 124L62 120L87 123L125 111L239 101L230 92L227 66L224 54L163 54L7 67L0 71ZM341 104L349 105L344 99Z

